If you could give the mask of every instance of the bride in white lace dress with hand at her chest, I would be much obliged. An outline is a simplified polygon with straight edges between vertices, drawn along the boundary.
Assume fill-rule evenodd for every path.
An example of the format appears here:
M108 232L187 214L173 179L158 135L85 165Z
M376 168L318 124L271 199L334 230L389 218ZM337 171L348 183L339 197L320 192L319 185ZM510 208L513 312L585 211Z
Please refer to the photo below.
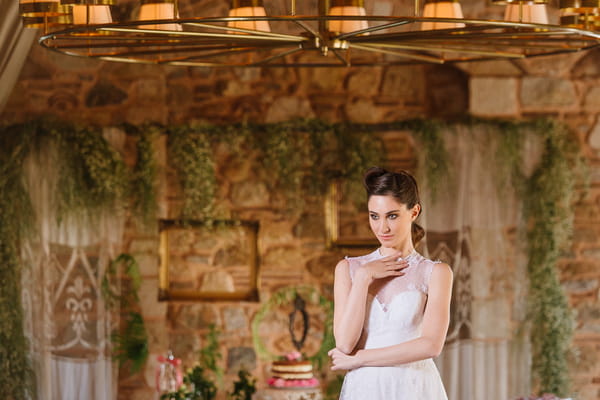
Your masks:
M410 174L373 167L364 184L381 247L335 269L329 356L333 370L348 370L340 400L446 400L432 357L448 331L452 270L414 248L425 232Z

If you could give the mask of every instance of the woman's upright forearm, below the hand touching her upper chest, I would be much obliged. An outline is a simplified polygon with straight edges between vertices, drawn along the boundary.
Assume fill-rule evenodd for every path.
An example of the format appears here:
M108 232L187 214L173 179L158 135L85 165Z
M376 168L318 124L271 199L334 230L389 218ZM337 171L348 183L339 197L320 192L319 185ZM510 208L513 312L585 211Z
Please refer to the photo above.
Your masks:
M370 281L357 271L342 315L334 326L335 345L346 354L354 350L362 334Z

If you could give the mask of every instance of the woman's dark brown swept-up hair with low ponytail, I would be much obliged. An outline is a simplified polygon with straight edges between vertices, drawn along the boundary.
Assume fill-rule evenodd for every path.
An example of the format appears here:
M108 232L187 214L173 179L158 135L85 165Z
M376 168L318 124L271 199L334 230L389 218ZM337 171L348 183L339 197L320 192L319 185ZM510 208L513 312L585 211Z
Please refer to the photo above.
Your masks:
M417 181L406 171L390 172L381 167L371 167L365 172L363 184L367 191L367 200L371 196L392 196L399 203L406 204L409 210L416 204L421 205ZM425 236L425 229L413 222L411 236L413 245L416 246Z

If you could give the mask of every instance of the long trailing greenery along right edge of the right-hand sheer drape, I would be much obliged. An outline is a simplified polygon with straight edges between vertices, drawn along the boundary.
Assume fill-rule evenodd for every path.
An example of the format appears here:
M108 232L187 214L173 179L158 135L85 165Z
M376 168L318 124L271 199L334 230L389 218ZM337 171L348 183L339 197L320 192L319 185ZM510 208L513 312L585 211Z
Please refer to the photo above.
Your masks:
M529 222L527 253L534 378L541 392L569 392L567 355L574 318L556 264L571 237L573 194L580 179L575 141L564 127L542 127L544 152L527 180L524 212ZM579 170L579 171L578 171Z

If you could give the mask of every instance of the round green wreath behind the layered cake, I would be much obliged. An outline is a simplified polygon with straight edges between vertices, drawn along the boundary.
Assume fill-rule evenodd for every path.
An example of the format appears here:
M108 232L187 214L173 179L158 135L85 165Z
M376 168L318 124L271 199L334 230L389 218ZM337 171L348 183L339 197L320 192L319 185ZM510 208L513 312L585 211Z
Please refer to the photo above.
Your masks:
M333 302L325 298L317 289L311 286L289 286L280 289L273 293L269 301L260 307L252 321L252 341L254 343L254 349L256 354L264 360L275 360L279 358L279 355L273 354L267 349L260 338L258 330L267 313L273 310L273 308L293 303L297 294L307 303L318 305L325 312L325 330L323 332L321 346L315 354L308 357L315 367L320 370L327 362L327 352L335 347L335 339L333 337Z

